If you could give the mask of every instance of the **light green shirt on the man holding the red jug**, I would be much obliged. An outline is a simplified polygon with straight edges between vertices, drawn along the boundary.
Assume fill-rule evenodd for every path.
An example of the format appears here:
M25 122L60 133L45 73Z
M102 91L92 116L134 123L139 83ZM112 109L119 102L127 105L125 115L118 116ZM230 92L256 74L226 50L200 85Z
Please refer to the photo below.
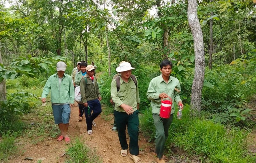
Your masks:
M147 97L151 100L152 113L160 114L161 99L159 98L160 93L167 93L172 99L172 111L174 113L174 100L178 104L180 95L174 89L177 88L180 90L180 82L177 78L170 76L168 82L166 83L162 77L162 74L156 78L153 78L148 86Z

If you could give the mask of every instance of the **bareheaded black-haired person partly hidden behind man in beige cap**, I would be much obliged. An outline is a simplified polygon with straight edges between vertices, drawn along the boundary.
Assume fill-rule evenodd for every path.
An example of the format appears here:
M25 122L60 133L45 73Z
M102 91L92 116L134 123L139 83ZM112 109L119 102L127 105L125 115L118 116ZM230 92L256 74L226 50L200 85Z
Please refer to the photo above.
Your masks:
M80 86L81 79L84 78L84 76L86 75L86 67L87 67L87 63L85 63L85 62L80 63L80 69L81 70L76 74L76 77L75 77L76 86ZM84 105L83 104L78 104L78 107L79 107L78 121L82 121L83 116L84 116Z

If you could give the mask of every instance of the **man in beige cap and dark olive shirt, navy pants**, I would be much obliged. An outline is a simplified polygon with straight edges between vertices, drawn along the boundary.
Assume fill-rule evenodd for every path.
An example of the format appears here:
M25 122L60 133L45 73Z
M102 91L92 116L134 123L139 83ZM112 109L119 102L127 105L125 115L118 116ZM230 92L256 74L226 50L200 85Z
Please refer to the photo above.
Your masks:
M97 78L93 76L94 72L94 66L88 65L86 67L86 75L80 81L81 100L85 107L84 113L86 116L88 134L92 134L92 125L96 126L96 123L93 120L101 113L101 95Z

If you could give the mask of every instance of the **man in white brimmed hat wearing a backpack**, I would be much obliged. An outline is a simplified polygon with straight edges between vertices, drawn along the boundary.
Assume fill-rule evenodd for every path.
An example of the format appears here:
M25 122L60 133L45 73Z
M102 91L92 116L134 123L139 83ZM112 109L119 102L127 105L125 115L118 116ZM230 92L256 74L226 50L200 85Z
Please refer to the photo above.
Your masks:
M116 68L121 75L111 82L111 97L115 103L114 116L118 132L119 142L122 150L121 155L127 156L128 144L126 141L125 129L128 127L130 136L129 157L140 163L139 155L139 89L137 78L132 75L135 69L128 62L123 62Z

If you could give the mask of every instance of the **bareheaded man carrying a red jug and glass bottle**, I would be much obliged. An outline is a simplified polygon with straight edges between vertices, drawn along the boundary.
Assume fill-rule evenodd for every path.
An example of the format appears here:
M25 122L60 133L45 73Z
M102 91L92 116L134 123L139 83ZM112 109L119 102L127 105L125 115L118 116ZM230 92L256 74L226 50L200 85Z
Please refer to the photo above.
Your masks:
M175 91L175 88L180 90L180 82L177 78L170 76L172 72L172 62L168 60L162 61L160 64L160 71L162 74L150 81L147 97L151 100L152 115L156 128L156 151L154 152L157 154L158 163L164 163L164 143L168 138L168 130L172 124L175 107L174 104L172 104L170 118L161 118L159 115L161 99L171 97L171 99L175 100L178 105L181 105L181 109L183 109L183 104L179 93Z

